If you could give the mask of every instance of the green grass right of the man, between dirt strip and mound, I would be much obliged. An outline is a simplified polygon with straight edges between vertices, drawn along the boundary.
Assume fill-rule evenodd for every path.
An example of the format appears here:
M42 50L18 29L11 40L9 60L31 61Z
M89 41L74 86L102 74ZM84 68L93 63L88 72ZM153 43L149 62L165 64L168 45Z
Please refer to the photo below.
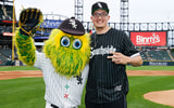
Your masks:
M142 95L152 91L174 90L174 76L128 77L128 108L173 108L144 99Z

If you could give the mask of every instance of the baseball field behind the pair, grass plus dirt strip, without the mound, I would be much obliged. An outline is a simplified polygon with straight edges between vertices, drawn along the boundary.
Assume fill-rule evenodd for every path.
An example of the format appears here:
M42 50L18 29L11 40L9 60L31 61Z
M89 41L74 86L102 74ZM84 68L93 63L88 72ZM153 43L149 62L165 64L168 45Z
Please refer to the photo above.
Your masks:
M127 66L127 75L128 108L174 108L144 97L149 92L174 90L174 67ZM0 108L45 108L44 96L45 83L40 70L27 66L0 67ZM85 108L84 98L85 89L79 108ZM171 102L170 96L164 99Z

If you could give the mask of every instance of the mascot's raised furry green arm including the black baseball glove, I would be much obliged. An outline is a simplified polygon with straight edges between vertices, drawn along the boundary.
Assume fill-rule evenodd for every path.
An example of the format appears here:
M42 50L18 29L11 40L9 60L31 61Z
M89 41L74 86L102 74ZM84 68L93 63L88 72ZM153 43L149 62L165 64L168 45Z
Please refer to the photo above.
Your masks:
M39 29L42 23L42 13L38 9L26 9L20 14L20 29L15 33L15 45L18 58L28 66L35 64L35 44L33 33Z

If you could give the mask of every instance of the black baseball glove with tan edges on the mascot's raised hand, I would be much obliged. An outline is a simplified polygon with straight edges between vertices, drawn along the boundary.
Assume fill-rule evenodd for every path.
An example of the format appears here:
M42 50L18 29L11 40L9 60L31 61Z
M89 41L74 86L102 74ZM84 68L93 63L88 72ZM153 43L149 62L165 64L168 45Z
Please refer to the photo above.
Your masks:
M38 9L25 9L20 14L20 33L24 36L33 36L39 29L44 22L42 13Z

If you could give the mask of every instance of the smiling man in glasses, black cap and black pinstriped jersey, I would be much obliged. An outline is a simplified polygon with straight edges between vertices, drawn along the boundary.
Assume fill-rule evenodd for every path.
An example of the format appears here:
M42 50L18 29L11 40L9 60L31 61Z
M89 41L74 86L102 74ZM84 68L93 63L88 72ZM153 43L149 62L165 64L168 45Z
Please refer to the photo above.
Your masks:
M86 108L127 108L126 64L140 66L142 59L125 32L108 26L107 3L94 3L91 15L96 32L91 35Z

